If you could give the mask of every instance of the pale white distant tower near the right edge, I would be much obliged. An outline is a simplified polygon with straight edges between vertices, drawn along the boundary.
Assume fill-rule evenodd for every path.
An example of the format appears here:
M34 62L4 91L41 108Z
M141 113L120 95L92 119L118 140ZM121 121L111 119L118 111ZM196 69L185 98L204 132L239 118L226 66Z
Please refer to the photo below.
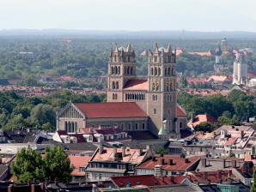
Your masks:
M247 85L247 59L245 54L241 51L237 51L235 57L233 84Z

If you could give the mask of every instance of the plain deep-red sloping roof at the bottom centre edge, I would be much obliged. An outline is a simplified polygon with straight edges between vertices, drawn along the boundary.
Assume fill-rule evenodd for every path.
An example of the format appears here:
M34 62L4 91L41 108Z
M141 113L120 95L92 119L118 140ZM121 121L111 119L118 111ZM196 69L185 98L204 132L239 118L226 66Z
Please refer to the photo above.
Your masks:
M111 180L113 181L114 185L119 188L124 188L127 184L130 184L131 187L136 185L161 185L154 175L111 177Z

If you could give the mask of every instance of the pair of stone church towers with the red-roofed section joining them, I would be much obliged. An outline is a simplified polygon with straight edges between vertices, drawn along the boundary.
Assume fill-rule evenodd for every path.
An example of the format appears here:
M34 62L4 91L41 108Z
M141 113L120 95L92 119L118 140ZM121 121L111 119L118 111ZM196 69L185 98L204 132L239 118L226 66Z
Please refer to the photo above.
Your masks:
M176 53L171 45L159 48L155 43L148 57L148 76L138 77L135 51L131 45L113 46L108 61L107 102L136 102L148 114L152 133L179 138Z

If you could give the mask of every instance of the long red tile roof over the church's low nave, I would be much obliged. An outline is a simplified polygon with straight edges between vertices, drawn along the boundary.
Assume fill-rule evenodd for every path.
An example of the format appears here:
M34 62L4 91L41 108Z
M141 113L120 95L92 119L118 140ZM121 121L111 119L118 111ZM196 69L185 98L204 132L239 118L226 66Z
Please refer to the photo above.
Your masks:
M148 117L134 102L77 103L75 105L89 118Z

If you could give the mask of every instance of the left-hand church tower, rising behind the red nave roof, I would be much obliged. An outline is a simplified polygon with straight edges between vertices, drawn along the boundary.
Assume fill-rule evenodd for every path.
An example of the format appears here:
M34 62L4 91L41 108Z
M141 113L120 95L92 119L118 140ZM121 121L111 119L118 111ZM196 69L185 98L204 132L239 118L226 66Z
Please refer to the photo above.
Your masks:
M131 44L126 48L117 44L108 59L107 102L124 102L123 87L136 77L135 53Z

